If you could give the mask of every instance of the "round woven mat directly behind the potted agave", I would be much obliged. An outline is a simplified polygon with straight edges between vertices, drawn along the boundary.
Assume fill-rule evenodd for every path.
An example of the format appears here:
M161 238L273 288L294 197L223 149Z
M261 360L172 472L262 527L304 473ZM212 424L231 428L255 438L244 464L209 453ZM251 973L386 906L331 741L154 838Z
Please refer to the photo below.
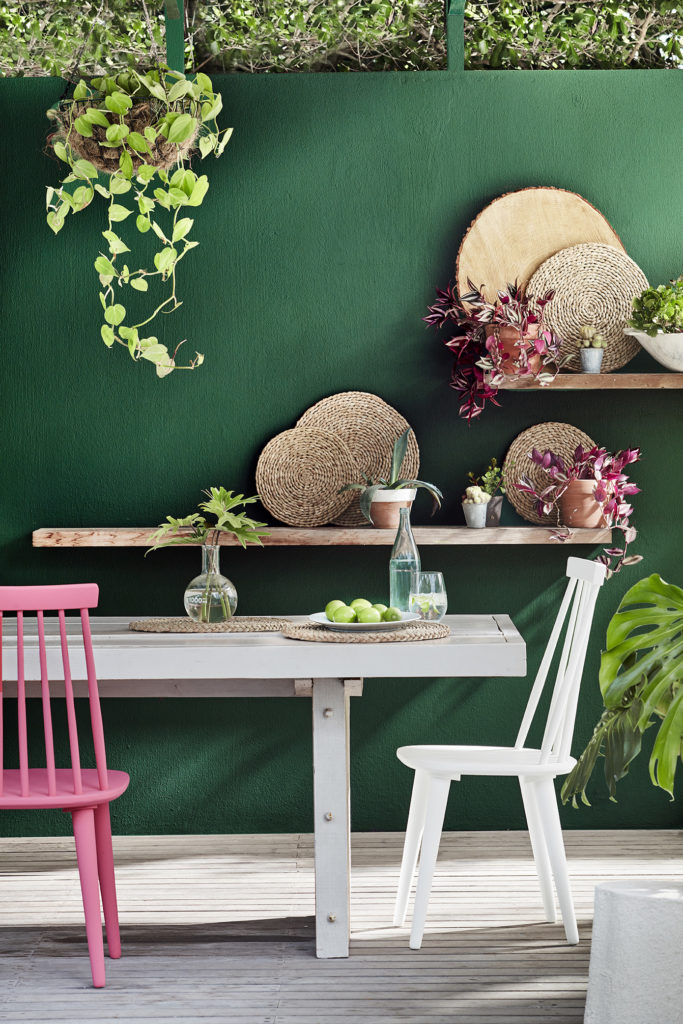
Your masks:
M353 453L360 473L372 479L387 477L391 471L393 442L410 424L388 402L367 391L343 391L306 410L297 424L299 427L316 427L329 430L341 438ZM415 433L408 436L408 449L401 465L401 476L414 478L420 470L420 450ZM347 483L355 482L351 480ZM358 493L351 492L348 507L336 515L339 526L368 525L358 505Z

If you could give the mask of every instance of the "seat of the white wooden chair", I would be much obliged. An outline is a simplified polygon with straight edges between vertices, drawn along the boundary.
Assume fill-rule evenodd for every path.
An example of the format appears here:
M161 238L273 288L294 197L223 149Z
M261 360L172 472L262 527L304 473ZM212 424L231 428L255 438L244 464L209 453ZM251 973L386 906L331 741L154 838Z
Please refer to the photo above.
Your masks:
M542 763L542 752L527 746L399 746L396 757L416 771L454 780L462 775L553 777L570 772L577 763L574 758Z

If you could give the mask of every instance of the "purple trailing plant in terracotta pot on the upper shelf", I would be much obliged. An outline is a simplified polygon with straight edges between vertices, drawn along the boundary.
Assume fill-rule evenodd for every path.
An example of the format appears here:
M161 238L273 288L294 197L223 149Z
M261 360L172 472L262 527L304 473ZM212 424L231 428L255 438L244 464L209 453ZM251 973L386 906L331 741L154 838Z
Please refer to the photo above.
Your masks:
M551 384L559 369L560 340L544 323L545 306L555 293L525 298L517 284L488 302L468 279L469 292L459 296L453 285L437 289L437 301L423 317L429 327L454 324L457 334L444 341L456 361L451 387L460 395L459 413L470 423L487 402L498 406L506 378Z

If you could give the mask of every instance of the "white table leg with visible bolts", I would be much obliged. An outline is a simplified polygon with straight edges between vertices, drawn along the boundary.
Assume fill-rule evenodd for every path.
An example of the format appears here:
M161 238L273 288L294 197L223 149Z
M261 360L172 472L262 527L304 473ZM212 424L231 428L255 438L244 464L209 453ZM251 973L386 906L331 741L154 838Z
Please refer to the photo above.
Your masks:
M351 864L348 724L343 679L314 679L315 953L348 956Z

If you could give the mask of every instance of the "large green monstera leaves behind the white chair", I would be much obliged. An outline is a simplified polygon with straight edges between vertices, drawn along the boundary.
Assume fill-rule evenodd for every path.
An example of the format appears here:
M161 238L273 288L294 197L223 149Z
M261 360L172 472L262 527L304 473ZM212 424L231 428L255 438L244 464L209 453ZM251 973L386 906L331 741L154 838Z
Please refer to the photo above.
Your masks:
M631 588L607 628L600 663L604 711L562 786L564 803L585 804L600 755L610 799L640 753L643 733L658 721L650 777L674 795L683 742L683 590L653 573Z

